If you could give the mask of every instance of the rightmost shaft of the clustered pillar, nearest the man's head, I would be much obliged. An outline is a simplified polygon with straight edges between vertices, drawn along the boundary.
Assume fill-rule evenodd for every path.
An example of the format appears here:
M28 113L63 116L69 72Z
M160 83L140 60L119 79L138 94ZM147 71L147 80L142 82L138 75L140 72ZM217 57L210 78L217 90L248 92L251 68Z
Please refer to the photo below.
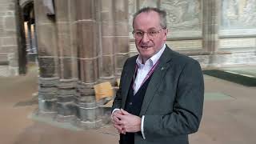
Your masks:
M122 66L129 57L129 2L114 0L114 73L121 75Z

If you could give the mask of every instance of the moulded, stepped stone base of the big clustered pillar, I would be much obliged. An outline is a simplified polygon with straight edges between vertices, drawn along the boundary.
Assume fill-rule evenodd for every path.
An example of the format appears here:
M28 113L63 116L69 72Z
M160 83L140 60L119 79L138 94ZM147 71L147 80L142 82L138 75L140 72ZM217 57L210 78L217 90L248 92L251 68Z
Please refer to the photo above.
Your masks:
M99 128L110 122L110 108L95 101L94 84L77 80L39 78L38 116L70 122L83 129Z

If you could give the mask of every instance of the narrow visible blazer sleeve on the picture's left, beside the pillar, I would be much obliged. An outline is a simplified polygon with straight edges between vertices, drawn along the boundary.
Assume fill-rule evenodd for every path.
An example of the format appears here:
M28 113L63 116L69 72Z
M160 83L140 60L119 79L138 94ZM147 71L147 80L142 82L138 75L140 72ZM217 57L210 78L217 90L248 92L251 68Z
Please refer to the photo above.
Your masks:
M119 88L118 88L117 93L116 93L115 98L114 98L114 102L113 102L113 106L111 108L111 112L116 108L120 109L121 106L122 106L122 81L123 81L124 75L126 74L126 63L127 63L127 61L128 61L128 59L126 60L124 66L122 68L120 84L119 84Z

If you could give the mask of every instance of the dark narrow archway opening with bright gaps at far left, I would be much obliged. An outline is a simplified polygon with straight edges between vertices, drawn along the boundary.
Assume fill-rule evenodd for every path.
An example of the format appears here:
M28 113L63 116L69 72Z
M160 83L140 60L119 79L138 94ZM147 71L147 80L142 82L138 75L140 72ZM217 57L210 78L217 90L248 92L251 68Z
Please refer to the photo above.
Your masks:
M17 0L15 2L17 37L18 37L18 71L26 74L27 63L37 61L37 42L34 25L34 1Z

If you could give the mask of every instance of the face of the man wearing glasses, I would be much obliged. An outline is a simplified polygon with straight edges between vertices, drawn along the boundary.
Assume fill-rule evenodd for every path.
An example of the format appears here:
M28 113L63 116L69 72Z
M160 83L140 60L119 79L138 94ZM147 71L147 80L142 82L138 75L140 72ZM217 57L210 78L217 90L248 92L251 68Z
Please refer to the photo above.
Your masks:
M138 14L134 19L134 32L159 32L155 37L145 33L142 38L135 38L135 45L143 60L147 60L161 50L166 42L167 30L162 30L160 17L157 12Z

